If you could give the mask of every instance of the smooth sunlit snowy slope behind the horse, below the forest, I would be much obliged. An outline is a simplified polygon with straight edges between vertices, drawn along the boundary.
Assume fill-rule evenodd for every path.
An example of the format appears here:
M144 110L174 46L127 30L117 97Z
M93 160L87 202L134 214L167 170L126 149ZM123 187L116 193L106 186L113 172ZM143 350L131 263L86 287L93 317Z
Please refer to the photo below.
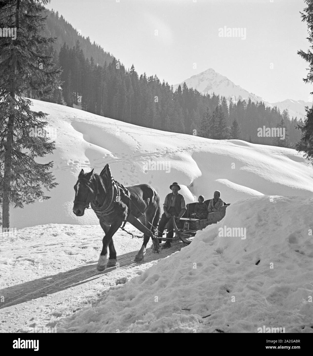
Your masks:
M106 163L124 185L151 184L161 201L173 182L181 185L186 203L214 190L226 203L253 195L313 195L313 171L295 150L239 140L206 138L147 129L67 106L33 100L34 110L47 112L56 129L56 150L40 159L53 160L59 183L48 201L11 209L17 229L42 224L98 224L93 211L73 214L73 189L81 168L100 173ZM150 163L149 163L150 161ZM153 163L165 169L153 170ZM162 166L161 166L162 168Z

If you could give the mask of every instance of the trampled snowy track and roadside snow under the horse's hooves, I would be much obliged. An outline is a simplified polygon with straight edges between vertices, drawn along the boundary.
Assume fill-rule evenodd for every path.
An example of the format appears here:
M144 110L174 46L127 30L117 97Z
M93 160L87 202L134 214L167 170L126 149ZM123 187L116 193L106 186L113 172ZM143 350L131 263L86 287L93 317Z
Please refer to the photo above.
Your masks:
M138 234L129 224L126 228ZM119 230L114 235L118 268L98 272L103 234L99 224L46 224L25 227L18 236L0 234L0 333L55 328L59 318L92 305L111 286L138 276L184 246L174 242L156 254L149 241L144 262L134 263L143 240Z

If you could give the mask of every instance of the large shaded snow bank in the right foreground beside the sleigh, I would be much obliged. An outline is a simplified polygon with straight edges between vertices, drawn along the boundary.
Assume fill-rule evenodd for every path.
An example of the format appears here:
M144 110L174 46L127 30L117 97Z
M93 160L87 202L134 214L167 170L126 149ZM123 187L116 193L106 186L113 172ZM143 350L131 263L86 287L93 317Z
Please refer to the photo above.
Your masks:
M313 198L238 201L191 245L61 319L58 332L312 333L312 214ZM225 226L246 238L219 237Z

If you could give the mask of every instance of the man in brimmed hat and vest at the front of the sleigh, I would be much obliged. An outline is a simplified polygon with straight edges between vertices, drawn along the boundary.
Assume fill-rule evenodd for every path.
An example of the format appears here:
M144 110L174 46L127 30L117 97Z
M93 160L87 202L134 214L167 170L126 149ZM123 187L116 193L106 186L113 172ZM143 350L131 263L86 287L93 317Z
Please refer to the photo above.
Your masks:
M172 190L171 193L166 195L165 201L163 204L163 211L164 213L161 216L159 227L158 227L158 237L163 236L163 231L165 229L165 225L168 224L168 233L166 234L165 244L162 248L169 248L171 247L171 242L174 236L174 227L173 227L173 220L172 216L177 216L181 218L185 211L186 211L186 204L183 195L179 194L178 191L180 190L180 186L177 182L174 182L170 185L170 189ZM159 239L159 243L161 244L162 240Z

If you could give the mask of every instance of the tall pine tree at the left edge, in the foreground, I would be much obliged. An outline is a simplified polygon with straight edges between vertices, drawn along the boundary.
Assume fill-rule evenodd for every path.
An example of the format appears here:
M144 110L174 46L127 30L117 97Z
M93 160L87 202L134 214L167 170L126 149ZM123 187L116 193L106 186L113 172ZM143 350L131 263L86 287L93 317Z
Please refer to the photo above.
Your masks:
M47 0L41 1L43 5ZM52 56L45 48L52 38L40 35L44 26L44 7L33 0L1 1L0 27L16 28L16 39L1 38L0 52L0 203L2 227L10 227L10 204L23 208L35 199L48 199L46 190L56 186L49 169L53 162L40 164L36 157L52 153L54 142L45 135L33 136L35 126L45 127L46 114L30 109L31 101L23 97L27 89L39 97L53 92L58 85L59 70L53 68ZM33 129L33 130L32 130ZM42 137L43 136L43 137Z

